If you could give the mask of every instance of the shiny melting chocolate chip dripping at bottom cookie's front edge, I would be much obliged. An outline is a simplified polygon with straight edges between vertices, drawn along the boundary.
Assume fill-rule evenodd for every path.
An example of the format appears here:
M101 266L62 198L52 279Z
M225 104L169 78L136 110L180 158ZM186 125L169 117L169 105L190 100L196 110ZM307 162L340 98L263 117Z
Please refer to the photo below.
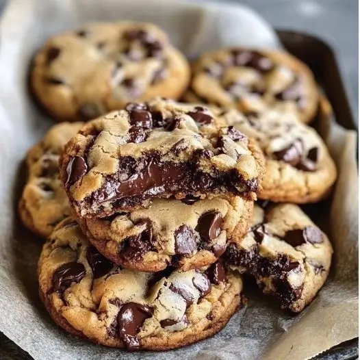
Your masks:
M128 350L140 348L140 341L136 334L144 321L152 315L151 307L138 303L127 303L120 308L117 316L119 335Z

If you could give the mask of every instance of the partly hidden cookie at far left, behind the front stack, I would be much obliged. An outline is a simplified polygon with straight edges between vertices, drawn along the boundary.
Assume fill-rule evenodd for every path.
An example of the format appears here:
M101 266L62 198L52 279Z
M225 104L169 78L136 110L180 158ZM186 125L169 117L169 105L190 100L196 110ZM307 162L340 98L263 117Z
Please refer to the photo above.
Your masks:
M42 237L70 215L68 197L59 179L58 162L64 145L83 123L62 123L51 127L44 138L27 153L29 172L18 204L23 223Z

